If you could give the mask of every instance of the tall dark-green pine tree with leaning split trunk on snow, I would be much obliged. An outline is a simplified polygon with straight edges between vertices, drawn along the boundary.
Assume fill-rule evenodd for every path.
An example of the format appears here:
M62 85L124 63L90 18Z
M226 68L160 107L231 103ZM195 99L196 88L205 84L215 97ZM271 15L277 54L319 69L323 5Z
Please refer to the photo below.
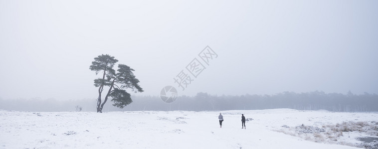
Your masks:
M119 64L116 72L113 67L118 60L114 57L100 55L94 58L94 60L89 69L95 71L96 74L102 74L101 78L94 80L94 85L98 87L97 112L102 113L102 108L109 97L114 102L113 106L119 108L123 108L133 102L131 95L126 91L127 88L131 88L135 92L143 92L143 89L138 84L139 80L133 74L134 70L127 65ZM109 89L108 92L105 92L104 102L102 102L101 95L104 86L109 87Z

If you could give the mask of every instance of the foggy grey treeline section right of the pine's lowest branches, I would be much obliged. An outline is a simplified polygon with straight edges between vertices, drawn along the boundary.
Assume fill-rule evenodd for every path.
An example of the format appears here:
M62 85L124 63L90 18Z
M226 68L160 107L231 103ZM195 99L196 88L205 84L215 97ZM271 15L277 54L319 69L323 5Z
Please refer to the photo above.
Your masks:
M365 93L355 95L341 93L324 93L314 91L307 93L283 92L274 95L214 96L197 93L196 96L180 96L173 103L164 103L158 97L138 97L129 110L259 110L290 108L297 110L328 110L340 112L378 111L378 95Z

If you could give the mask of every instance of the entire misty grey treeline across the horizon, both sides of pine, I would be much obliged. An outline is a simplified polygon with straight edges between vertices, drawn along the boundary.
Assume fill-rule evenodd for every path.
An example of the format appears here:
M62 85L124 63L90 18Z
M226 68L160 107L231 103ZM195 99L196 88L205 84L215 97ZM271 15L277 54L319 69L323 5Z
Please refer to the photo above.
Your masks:
M377 94L356 95L352 92L324 93L314 91L306 93L282 92L274 95L209 95L197 93L195 96L179 96L173 103L165 103L159 96L132 96L133 102L123 109L112 106L109 100L104 106L107 111L223 111L223 110L260 110L290 108L297 110L328 110L338 112L378 111ZM75 111L75 106L82 111L96 111L95 99L57 101L54 99L17 99L0 100L0 109L19 111Z

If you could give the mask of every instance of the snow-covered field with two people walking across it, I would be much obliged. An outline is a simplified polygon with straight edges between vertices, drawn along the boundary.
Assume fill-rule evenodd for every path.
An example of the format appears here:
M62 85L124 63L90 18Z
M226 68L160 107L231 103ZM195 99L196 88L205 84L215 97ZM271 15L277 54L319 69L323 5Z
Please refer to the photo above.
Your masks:
M222 128L219 112L224 118ZM247 129L241 129L241 114L253 119L246 122ZM356 147L351 146L362 143L358 137L377 138L377 130L363 126L364 132L330 134L333 128L342 127L338 123L350 121L375 126L378 124L372 121L378 121L378 113L0 110L0 149L353 149ZM306 131L311 128L323 131Z

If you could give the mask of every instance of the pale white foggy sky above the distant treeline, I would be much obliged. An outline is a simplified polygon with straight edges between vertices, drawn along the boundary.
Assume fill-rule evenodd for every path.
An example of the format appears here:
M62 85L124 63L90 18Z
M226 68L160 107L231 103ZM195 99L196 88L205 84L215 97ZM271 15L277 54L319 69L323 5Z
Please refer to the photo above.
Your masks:
M378 93L377 26L377 0L0 0L0 98L96 98L101 54L136 70L136 95Z

